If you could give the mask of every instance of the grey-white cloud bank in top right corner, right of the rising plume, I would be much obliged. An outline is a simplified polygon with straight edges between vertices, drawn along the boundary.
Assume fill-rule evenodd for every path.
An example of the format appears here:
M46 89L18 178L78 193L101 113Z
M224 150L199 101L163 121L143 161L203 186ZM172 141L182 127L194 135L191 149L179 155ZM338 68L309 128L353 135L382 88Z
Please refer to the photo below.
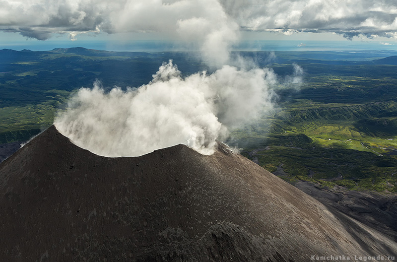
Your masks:
M394 0L220 0L240 27L253 31L333 32L351 39L396 37Z

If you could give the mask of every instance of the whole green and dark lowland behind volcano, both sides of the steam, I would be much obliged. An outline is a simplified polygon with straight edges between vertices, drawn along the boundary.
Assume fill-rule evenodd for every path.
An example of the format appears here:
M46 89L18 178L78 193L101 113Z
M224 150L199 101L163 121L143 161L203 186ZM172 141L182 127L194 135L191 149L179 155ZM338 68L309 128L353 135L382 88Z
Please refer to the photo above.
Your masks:
M237 55L234 53L233 55ZM278 75L275 109L227 143L282 179L397 193L397 58L384 52L244 52ZM385 59L387 57L387 59ZM271 59L270 59L271 58ZM193 53L0 50L0 144L25 141L96 79L105 88L148 83L173 59L183 74L208 70ZM303 81L286 81L293 63Z

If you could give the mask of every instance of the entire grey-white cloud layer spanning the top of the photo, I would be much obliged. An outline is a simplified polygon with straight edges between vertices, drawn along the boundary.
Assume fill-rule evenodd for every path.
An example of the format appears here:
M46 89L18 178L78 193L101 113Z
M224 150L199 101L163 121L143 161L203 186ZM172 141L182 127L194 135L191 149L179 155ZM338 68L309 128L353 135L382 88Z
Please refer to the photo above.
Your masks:
M239 30L396 38L397 5L394 0L0 0L0 30L40 40L53 33L74 38L86 32L155 31L199 42L202 49L216 42L211 57L233 44Z

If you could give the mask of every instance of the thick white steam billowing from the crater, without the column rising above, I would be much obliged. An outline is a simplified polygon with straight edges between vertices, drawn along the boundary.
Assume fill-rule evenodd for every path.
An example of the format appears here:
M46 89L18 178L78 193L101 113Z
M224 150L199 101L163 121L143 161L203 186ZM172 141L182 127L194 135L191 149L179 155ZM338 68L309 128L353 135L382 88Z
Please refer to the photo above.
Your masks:
M272 109L270 69L223 66L186 78L170 61L137 89L82 88L55 120L76 145L104 156L138 156L179 143L212 154L216 139Z

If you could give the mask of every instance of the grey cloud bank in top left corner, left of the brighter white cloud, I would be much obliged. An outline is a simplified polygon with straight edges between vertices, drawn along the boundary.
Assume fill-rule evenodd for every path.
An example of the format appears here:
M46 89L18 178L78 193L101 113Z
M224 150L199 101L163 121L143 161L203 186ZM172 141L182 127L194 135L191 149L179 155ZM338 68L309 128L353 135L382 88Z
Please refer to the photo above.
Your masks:
M39 40L54 33L95 32L108 20L108 7L93 0L0 0L0 29Z

